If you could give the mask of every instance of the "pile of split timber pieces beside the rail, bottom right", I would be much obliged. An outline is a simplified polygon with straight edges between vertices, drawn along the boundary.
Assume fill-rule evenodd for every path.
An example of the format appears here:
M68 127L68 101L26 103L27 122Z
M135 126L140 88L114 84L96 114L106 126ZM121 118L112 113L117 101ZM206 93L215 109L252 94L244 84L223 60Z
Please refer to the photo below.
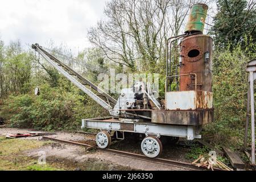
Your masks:
M200 155L198 159L192 162L192 164L197 167L207 167L208 169L212 169L212 171L214 171L214 168L219 168L225 171L233 171L232 168L226 166L224 163L210 155Z

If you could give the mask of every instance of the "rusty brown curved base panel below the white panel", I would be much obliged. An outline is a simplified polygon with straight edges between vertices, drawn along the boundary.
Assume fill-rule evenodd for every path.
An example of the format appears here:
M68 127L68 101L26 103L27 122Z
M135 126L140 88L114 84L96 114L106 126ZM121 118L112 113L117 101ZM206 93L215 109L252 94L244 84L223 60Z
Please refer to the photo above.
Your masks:
M209 110L155 110L152 123L202 126L213 121L213 109Z

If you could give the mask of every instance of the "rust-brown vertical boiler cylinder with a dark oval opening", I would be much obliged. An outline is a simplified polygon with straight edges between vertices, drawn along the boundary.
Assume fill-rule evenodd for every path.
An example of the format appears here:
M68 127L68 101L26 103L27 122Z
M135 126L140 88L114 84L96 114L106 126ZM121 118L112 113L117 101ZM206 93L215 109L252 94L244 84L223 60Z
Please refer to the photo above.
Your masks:
M212 92L212 46L213 40L208 35L192 35L181 42L180 91L204 90ZM197 79L197 85L195 80Z

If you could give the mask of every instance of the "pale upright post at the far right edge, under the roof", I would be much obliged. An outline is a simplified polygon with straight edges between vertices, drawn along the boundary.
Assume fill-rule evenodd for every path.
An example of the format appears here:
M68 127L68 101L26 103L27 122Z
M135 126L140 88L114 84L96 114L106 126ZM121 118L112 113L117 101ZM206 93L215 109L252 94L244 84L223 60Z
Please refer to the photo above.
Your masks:
M255 165L255 130L254 130L254 78L250 72L250 101L251 101L251 165Z

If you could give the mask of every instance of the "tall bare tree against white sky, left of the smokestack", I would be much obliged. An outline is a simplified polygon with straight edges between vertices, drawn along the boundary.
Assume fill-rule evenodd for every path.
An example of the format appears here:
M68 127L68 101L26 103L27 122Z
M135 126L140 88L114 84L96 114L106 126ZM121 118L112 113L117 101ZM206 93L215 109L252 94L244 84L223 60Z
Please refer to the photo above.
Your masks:
M132 71L160 73L167 38L180 34L196 2L207 0L113 0L106 4L106 19L89 29L89 41L106 59Z

